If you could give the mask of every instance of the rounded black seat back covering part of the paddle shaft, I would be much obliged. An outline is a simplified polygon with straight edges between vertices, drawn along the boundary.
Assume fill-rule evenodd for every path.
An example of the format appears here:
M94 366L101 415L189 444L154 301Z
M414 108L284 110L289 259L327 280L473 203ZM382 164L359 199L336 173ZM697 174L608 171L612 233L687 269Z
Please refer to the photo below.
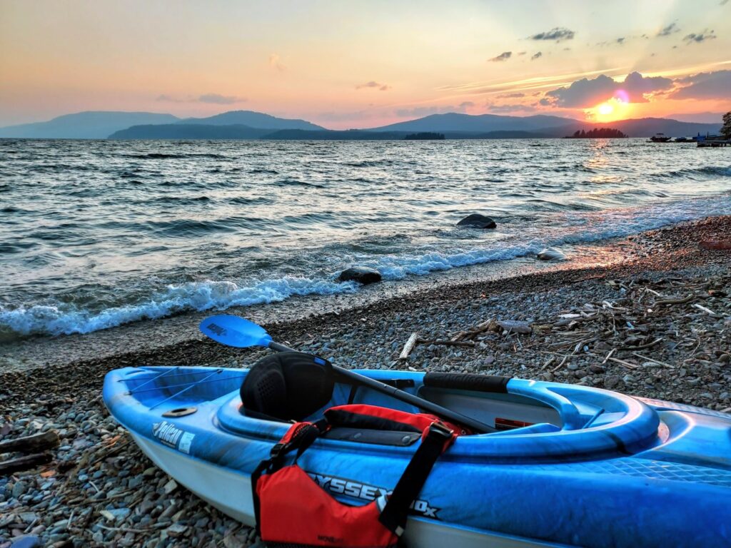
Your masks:
M260 419L301 421L333 397L330 362L303 352L260 359L241 384L241 411Z

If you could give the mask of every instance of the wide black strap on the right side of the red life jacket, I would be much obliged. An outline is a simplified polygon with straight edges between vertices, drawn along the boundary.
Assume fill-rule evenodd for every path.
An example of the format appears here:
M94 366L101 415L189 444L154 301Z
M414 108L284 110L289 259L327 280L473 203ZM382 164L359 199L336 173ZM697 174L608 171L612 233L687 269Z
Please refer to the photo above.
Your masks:
M378 518L384 527L395 535L401 536L401 533L404 533L409 506L419 496L431 468L444 451L444 444L451 438L451 430L439 422L434 422L411 462L406 466L404 475L398 480Z

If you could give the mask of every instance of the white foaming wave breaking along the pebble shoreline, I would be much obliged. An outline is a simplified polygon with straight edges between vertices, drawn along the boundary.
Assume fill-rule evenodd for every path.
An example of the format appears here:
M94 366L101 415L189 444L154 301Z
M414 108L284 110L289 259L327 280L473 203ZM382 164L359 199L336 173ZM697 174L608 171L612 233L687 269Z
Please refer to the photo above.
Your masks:
M491 248L360 256L357 262L376 268L387 280L400 280L409 275L425 275L455 267L515 259L536 254L546 246L598 242L681 221L728 214L731 214L731 197L728 196L666 203L642 210L565 213L556 218L555 233L552 232L553 227L548 227L540 235L529 240L526 237L527 241L523 242L516 235L512 240L503 240L504 246L493 243ZM0 305L0 328L9 328L20 335L88 333L141 319L162 318L181 311L224 310L232 306L278 302L293 295L327 295L356 290L357 284L353 282L338 283L336 273L322 275L322 278L287 276L243 285L233 281L190 282L167 286L163 292L145 302L107 308L97 313L78 310L70 305L31 305L27 308L5 308Z

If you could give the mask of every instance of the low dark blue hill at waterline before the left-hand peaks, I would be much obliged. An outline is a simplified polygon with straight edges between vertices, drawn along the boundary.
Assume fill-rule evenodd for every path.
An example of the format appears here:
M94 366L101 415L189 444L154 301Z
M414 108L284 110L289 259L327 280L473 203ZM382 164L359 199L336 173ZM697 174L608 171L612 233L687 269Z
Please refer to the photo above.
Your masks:
M110 139L260 139L271 129L260 129L242 124L214 126L202 123L164 123L132 126L109 136Z

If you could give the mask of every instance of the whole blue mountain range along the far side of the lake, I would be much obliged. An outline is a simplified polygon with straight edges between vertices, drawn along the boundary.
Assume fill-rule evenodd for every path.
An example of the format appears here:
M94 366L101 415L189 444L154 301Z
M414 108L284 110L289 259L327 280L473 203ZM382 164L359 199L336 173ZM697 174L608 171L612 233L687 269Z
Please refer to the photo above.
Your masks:
M251 110L232 110L208 118L178 118L171 114L83 112L0 128L0 137L41 139L273 139L385 140L403 139L414 132L436 132L447 139L565 137L596 127L618 129L629 137L670 137L717 133L718 123L670 118L638 118L589 123L552 115L508 116L461 113L433 114L415 120L368 129L336 131L297 119L278 118Z

